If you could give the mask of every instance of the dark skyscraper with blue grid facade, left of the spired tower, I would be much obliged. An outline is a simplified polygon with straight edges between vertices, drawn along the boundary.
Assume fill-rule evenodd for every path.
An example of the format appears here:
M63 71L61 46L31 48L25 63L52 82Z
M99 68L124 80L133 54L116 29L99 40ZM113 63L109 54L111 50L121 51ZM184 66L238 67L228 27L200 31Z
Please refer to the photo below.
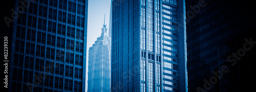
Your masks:
M13 4L8 90L85 91L88 1Z

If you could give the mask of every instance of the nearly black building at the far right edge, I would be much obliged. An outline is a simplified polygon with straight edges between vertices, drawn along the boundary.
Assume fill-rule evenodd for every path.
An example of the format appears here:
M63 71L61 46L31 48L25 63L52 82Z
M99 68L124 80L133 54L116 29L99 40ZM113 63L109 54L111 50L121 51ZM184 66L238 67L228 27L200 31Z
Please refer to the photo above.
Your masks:
M255 4L186 1L188 91L253 88L249 84L256 49Z

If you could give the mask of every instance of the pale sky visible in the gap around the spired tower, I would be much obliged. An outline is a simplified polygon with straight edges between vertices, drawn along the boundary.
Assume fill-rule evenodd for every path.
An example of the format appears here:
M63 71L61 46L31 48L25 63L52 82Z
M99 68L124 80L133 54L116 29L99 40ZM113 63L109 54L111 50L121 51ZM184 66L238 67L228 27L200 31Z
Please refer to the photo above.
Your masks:
M109 29L111 0L89 0L88 1L88 28L87 28L87 57L86 57L86 92L88 81L88 50L94 42L100 37L101 28L104 23Z

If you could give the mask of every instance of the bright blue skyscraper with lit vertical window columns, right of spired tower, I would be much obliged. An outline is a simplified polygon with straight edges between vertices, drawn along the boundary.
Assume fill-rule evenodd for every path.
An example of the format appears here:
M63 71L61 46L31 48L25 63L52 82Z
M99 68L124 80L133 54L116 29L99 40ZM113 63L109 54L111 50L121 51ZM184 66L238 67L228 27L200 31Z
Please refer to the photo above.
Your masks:
M111 91L187 91L185 2L112 1Z

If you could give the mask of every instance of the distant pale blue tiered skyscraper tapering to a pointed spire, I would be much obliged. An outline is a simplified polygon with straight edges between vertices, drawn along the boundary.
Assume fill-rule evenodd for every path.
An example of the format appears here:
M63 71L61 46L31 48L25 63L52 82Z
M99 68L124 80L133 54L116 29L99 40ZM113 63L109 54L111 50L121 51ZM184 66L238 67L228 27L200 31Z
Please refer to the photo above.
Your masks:
M101 36L89 48L88 92L110 91L111 38L105 20Z

